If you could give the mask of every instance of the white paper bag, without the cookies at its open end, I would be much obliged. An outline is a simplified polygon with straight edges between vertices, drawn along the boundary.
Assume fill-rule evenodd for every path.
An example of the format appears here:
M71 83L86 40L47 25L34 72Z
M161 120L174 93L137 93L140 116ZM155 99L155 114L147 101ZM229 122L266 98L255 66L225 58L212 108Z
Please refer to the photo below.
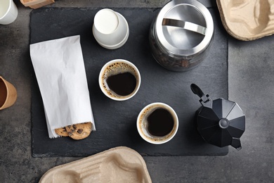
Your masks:
M58 137L56 128L83 122L92 122L92 130L96 130L79 35L31 44L30 56L48 136Z

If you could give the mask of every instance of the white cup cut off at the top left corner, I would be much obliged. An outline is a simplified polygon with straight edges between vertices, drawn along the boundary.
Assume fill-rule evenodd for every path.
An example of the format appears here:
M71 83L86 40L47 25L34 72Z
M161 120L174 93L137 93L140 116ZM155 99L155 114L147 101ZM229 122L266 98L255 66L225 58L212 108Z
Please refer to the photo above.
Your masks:
M13 0L0 1L0 24L7 25L13 23L17 15L18 8L15 6Z

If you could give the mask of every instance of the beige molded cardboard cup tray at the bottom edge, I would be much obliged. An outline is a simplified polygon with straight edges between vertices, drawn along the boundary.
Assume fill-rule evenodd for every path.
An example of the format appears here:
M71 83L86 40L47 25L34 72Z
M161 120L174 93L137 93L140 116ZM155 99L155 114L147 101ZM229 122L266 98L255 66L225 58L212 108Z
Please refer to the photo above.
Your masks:
M64 181L152 182L142 156L122 146L51 168L39 183Z

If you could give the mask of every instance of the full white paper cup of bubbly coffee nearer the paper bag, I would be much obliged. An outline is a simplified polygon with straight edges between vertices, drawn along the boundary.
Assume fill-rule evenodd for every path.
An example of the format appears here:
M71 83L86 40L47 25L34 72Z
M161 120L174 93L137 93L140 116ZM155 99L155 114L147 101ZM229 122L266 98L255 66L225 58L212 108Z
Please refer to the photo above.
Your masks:
M138 92L141 75L133 63L115 59L100 70L99 85L105 96L115 101L125 101Z

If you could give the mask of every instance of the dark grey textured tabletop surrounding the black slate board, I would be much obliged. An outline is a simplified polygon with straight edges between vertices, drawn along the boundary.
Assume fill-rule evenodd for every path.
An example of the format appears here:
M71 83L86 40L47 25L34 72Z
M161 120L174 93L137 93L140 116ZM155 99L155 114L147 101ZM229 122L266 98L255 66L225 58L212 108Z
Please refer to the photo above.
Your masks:
M162 7L167 1L67 1L54 7ZM29 55L30 8L0 25L0 75L18 89L18 100L0 111L0 182L38 182L50 168L79 158L32 158ZM210 5L210 3L209 3ZM218 25L221 26L221 25ZM152 182L274 182L274 36L253 42L229 38L229 99L247 115L242 150L227 156L144 157Z

